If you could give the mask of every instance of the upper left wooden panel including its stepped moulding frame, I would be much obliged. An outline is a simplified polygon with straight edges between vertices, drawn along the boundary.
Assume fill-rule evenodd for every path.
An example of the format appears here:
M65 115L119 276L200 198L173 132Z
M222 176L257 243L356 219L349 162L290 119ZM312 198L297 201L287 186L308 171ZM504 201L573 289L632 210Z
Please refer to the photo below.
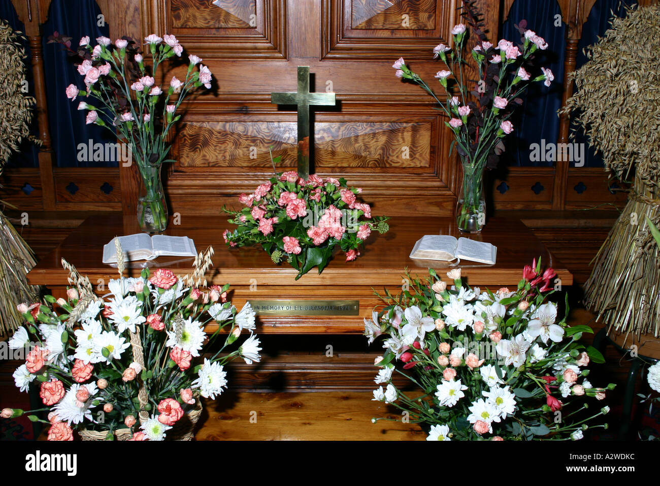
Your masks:
M286 0L166 0L165 32L205 59L286 59Z

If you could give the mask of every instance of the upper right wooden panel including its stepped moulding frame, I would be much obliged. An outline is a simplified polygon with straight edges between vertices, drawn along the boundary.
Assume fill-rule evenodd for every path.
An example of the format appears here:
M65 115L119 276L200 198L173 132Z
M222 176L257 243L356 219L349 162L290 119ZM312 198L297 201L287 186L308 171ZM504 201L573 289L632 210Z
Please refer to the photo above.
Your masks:
M456 7L457 0L323 0L321 58L428 60L434 46L450 42Z

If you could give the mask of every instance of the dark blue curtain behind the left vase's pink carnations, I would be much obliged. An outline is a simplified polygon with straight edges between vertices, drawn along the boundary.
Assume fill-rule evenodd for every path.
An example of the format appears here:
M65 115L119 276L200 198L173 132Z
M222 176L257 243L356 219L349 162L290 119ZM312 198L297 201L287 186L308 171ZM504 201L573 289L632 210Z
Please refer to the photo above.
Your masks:
M72 3L71 0L53 0L48 21L42 29L50 134L57 167L117 167L117 161L78 160L77 147L80 143L88 145L89 140L92 144L114 143L117 139L106 128L85 124L86 112L77 109L79 102L85 99L77 98L71 102L65 95L70 84L79 88L84 86L82 77L61 44L46 43L48 36L55 31L72 38L73 50L77 49L82 36L90 36L92 46L96 44L94 39L97 37L110 36L107 23L98 25L101 11L96 1L77 0L75 7Z

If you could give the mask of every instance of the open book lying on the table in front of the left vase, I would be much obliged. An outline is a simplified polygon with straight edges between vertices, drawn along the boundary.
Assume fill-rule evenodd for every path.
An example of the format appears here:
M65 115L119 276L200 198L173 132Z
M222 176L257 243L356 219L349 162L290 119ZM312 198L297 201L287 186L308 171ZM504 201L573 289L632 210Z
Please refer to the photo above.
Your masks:
M166 236L147 233L120 236L119 243L126 261L153 260L160 255L196 257L195 242L187 236ZM103 263L117 263L115 239L103 246Z

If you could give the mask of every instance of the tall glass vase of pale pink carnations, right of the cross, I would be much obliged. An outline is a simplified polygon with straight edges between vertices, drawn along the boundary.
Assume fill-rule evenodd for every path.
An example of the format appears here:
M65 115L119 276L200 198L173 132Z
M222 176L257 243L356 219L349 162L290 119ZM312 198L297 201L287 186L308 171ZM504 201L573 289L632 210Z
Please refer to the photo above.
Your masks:
M541 67L541 74L533 76L533 64L538 50L545 50L548 44L533 30L524 28L520 22L521 44L502 39L497 44L488 42L480 25L479 13L473 2L463 0L461 15L479 37L471 56L476 61L479 79L473 89L465 84L473 75L467 69L466 24L457 24L451 30L453 46L439 44L433 49L434 58L444 63L436 79L445 91L440 99L434 90L403 60L395 61L392 67L397 77L416 83L438 102L440 109L449 118L445 124L451 129L463 166L457 222L459 229L467 233L478 233L485 223L485 202L482 194L482 177L486 167L497 167L499 155L504 152L502 139L514 130L510 118L515 108L523 103L520 98L531 81L543 81L546 86L554 80L550 69Z

